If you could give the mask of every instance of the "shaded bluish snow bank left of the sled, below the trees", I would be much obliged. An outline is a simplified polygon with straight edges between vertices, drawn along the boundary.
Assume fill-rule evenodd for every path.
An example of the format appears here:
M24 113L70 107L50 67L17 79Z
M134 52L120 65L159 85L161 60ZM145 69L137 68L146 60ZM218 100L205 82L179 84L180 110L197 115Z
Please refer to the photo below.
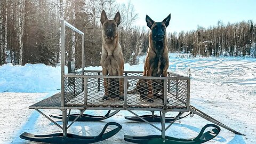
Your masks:
M0 92L46 92L61 88L61 67L44 64L0 66Z

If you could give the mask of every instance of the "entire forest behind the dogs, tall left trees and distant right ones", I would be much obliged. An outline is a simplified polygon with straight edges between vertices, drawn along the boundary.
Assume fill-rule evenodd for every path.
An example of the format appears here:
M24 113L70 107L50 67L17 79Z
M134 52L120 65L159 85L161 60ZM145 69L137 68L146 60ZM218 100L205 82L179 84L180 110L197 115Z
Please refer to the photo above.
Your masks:
M115 0L2 0L0 2L0 65L45 63L60 65L60 19L64 19L85 34L85 65L99 66L101 54L100 14L105 10L109 19L121 13L119 42L125 62L134 65L137 56L146 54L147 27L134 25L138 14L133 4L118 4ZM146 23L146 22L145 22ZM146 25L145 25L146 26ZM66 29L66 61L82 66L82 39ZM202 56L256 57L253 21L199 27L197 30L167 34L170 52Z

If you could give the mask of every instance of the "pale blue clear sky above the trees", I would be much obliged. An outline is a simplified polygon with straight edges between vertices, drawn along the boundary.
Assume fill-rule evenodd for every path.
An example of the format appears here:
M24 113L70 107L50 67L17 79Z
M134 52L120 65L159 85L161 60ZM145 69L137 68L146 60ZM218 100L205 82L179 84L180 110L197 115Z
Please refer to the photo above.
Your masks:
M255 0L116 0L131 3L138 13L136 25L146 26L146 14L154 21L162 21L171 13L167 31L195 30L198 26L216 26L221 20L225 25L241 21L256 22Z

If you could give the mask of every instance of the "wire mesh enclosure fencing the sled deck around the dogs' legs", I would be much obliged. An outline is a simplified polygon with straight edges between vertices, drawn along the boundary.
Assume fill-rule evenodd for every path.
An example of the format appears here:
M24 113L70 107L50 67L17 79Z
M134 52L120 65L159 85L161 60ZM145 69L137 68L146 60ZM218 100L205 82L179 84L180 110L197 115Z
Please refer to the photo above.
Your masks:
M189 77L172 73L167 77L141 75L141 71L125 71L119 77L102 76L101 71L83 71L66 76L65 106L167 111L188 108Z

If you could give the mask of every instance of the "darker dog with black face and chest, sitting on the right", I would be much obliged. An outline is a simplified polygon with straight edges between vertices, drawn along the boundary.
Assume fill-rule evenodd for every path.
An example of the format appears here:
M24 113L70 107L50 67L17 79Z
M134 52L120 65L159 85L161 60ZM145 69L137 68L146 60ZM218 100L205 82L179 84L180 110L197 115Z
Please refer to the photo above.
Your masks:
M144 65L143 76L167 76L169 67L168 48L166 46L166 27L169 26L171 14L162 22L155 22L146 15L147 26L151 29L149 33L149 47ZM160 85L160 86L159 86ZM141 99L154 102L153 97L164 99L164 86L160 80L139 79L137 91ZM158 92L161 92L158 95Z

